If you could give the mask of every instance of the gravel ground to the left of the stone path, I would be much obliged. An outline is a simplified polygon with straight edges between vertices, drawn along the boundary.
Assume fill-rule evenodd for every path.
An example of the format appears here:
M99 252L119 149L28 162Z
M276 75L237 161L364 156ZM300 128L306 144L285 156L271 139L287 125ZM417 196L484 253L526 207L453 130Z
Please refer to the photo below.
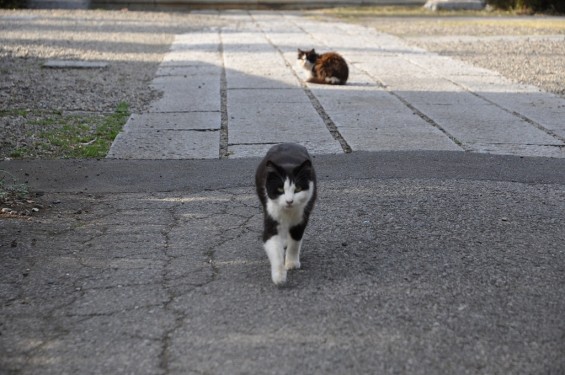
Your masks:
M212 15L127 11L0 10L0 159L33 148L53 113L141 112L175 34L218 26ZM48 59L107 62L103 69L49 69ZM26 113L22 110L26 110ZM37 149L27 157L50 158Z

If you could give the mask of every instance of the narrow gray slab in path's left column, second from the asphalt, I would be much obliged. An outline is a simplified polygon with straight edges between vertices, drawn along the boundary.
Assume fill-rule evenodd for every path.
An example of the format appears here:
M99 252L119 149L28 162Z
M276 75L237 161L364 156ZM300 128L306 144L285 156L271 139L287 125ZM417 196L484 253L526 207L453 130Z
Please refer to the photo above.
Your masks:
M168 112L131 115L126 130L219 130L221 113Z

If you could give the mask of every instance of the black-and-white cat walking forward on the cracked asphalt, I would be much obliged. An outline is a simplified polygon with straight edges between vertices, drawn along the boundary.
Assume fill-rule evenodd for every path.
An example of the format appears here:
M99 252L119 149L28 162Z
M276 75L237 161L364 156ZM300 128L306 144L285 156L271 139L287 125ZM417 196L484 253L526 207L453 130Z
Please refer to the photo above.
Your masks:
M295 143L271 147L255 174L263 206L263 247L276 285L287 270L300 268L302 235L316 201L316 173L306 148Z

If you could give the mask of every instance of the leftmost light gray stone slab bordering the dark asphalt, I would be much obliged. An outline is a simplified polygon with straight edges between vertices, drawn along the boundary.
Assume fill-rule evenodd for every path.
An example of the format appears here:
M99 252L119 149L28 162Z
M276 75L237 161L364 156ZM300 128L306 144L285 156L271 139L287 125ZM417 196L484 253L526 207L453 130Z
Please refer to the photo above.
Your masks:
M146 130L118 134L111 159L217 159L220 132L194 130Z

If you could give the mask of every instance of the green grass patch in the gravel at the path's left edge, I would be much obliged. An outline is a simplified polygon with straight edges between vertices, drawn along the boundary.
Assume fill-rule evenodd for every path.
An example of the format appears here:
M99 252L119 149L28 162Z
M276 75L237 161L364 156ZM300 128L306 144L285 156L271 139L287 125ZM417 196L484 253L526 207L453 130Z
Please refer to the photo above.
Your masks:
M58 111L35 115L28 121L33 143L14 149L10 157L103 158L129 115L124 102L109 115L65 115Z

